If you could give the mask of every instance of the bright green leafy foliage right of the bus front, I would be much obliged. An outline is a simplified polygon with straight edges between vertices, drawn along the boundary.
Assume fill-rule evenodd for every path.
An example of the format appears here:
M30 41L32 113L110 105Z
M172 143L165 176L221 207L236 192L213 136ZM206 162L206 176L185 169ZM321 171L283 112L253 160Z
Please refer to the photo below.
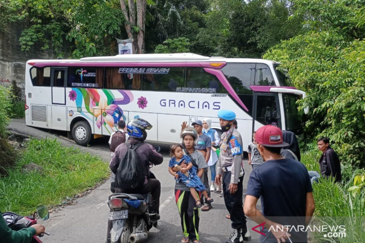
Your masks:
M352 14L361 7L352 5L349 11L346 1L333 1L330 7L307 2L295 1L296 14L306 16L307 32L274 46L264 58L281 62L294 85L307 92L299 102L300 109L311 107L307 138L330 137L343 162L364 168L365 41L354 39L360 32L347 31L363 27L362 19L356 23L357 14Z

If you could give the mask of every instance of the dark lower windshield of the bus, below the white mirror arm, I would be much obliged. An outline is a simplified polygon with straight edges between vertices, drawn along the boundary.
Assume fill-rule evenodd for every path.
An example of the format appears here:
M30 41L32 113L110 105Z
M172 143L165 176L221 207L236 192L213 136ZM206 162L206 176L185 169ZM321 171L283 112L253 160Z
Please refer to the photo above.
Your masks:
M301 126L298 109L296 106L296 101L299 98L300 97L298 95L283 94L286 130L291 131L297 135L303 132L303 126Z

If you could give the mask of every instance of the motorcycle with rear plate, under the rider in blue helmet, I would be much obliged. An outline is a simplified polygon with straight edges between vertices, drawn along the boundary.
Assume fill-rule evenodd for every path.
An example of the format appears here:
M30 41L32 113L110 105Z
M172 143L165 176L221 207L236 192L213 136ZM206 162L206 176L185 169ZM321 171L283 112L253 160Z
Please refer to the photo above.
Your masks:
M160 147L154 147L157 152ZM150 168L153 164L149 165ZM151 173L152 174L152 173ZM154 177L154 175L152 174ZM108 220L112 220L111 242L137 243L147 240L147 232L157 227L155 213L150 213L150 193L127 194L114 193L108 197L108 206L111 209Z

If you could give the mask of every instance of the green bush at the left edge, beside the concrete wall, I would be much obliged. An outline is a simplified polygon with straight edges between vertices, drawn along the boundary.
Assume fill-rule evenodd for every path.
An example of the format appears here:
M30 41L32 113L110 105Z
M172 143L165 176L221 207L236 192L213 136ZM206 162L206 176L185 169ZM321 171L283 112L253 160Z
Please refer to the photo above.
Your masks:
M5 137L11 113L12 94L8 87L0 86L0 137Z

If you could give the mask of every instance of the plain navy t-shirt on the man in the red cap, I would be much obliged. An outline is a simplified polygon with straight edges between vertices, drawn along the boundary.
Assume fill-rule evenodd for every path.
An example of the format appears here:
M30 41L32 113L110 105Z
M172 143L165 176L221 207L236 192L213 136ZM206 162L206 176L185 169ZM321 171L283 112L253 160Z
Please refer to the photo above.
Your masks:
M282 225L305 227L307 193L312 192L306 166L284 158L268 160L254 169L247 183L246 195L261 199L262 215ZM292 227L294 228L294 227ZM260 242L277 242L268 228ZM307 242L307 232L290 230L292 242Z

